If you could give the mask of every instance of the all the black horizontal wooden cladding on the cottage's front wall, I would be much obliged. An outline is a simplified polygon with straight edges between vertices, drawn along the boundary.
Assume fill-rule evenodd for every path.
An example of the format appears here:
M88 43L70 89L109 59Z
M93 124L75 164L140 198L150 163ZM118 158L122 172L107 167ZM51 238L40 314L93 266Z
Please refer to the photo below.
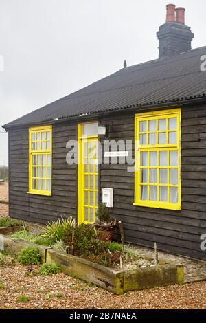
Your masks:
M112 120L111 140L133 140L135 115L104 117ZM77 166L66 162L68 140L77 139L76 124L53 127L52 197L27 194L28 129L10 131L10 215L47 223L71 214L77 219ZM134 154L134 151L133 151ZM182 210L133 205L135 181L127 165L101 165L100 189L114 188L111 214L124 223L126 242L165 252L206 258L201 235L206 234L206 106L182 109Z

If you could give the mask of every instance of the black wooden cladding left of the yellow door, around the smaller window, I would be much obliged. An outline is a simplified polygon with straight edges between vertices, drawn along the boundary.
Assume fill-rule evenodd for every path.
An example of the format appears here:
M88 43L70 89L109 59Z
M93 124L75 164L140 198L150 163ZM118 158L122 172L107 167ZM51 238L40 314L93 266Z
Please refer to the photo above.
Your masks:
M66 144L77 139L76 124L53 126L52 197L27 194L28 129L10 132L10 215L25 221L47 223L60 216L77 217L77 166L66 161Z

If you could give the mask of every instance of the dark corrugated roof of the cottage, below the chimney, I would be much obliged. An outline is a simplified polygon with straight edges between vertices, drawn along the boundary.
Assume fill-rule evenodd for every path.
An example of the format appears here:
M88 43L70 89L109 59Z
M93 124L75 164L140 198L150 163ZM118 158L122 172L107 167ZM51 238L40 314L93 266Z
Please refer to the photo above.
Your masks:
M206 47L126 67L6 124L5 128L205 96L206 72L201 71L203 55L206 55Z

